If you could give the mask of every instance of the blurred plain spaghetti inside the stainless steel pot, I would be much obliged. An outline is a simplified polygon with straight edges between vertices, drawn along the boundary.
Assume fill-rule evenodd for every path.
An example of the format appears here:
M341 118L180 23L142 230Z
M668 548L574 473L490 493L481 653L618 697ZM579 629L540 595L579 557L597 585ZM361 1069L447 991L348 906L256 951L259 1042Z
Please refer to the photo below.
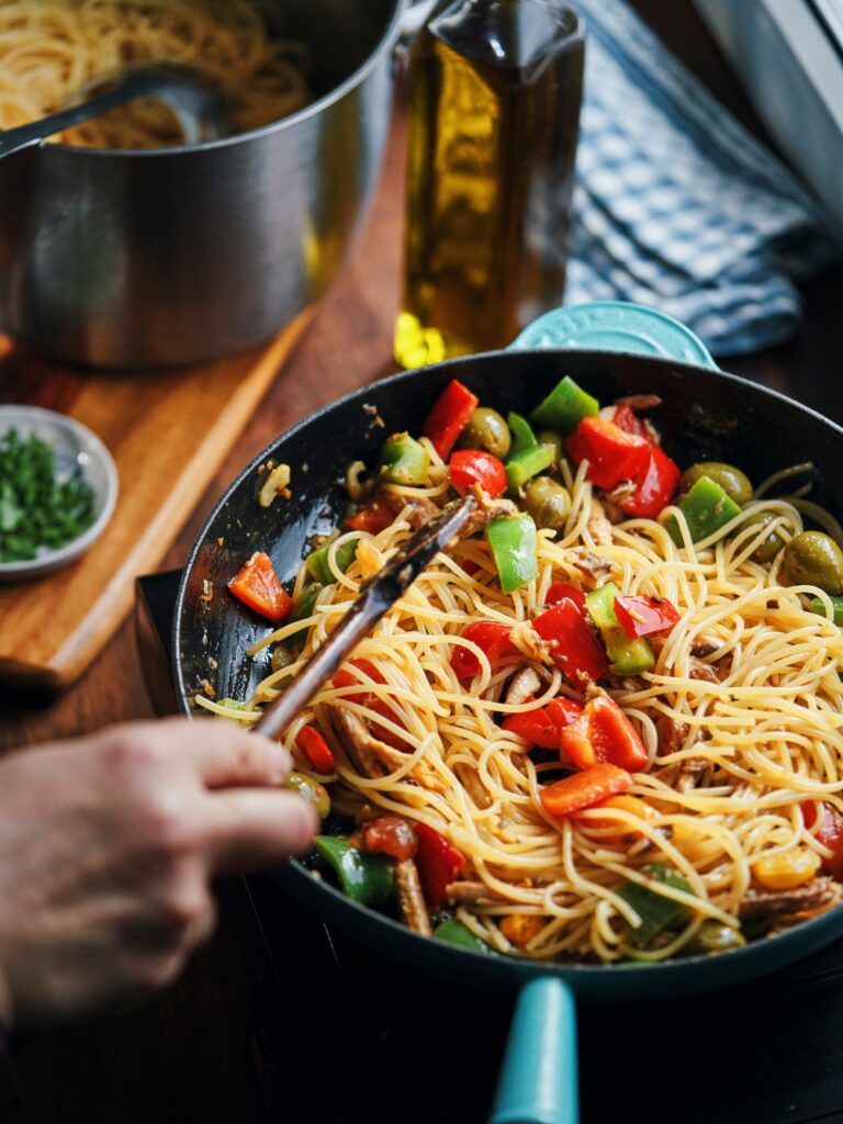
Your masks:
M37 120L129 66L192 66L228 94L241 130L310 100L306 51L284 38L278 8L251 0L18 0L0 3L0 128ZM182 143L172 111L137 99L55 142L94 148Z

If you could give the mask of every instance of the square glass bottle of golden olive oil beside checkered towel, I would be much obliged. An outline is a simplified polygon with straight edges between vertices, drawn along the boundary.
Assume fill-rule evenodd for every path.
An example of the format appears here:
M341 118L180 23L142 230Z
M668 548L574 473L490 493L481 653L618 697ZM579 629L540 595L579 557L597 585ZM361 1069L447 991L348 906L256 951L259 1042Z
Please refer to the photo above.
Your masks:
M583 39L558 0L441 0L418 34L404 366L506 346L560 303Z

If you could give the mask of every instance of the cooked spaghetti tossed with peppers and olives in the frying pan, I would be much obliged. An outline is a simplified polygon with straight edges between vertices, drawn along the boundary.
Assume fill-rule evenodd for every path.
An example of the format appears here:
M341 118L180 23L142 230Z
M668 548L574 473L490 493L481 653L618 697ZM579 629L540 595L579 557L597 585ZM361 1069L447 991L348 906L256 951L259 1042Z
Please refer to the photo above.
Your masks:
M255 649L303 637L298 656L278 663L244 709L200 699L203 706L254 722L325 641L360 583L407 540L419 491L436 502L446 498L446 465L427 438L422 444L430 461L426 487L381 484L400 509L395 520L373 534L336 538L328 563L335 580L320 589L310 614ZM452 900L456 916L499 952L662 960L700 951L706 926L742 940L743 921L752 935L747 903L763 899L764 888L822 885L814 905L785 909L776 924L827 908L840 899L839 883L821 867L831 858L823 816L843 814L843 637L827 595L818 614L807 604L817 589L782 578L780 551L772 562L753 558L771 535L782 544L798 535L800 510L762 488L762 498L697 542L685 534L678 545L669 533L676 506L659 520L622 518L607 532L605 500L588 468L583 461L572 474L561 462L570 514L558 533L540 529L534 580L504 593L482 536L438 555L355 651L351 682L326 685L285 744L301 762L297 735L306 725L321 732L337 762L336 773L323 778L333 782L336 812L359 821L405 816L446 837L466 861L462 899ZM337 552L355 537L355 560L342 572ZM651 636L650 670L604 681L647 763L634 771L623 798L555 818L541 794L559 776L559 753L531 753L500 722L553 699L583 700L582 685L566 679L531 623L552 583L588 592L608 580L624 595L665 599L679 613L665 635ZM308 581L302 566L293 598ZM510 627L501 659L490 660L463 637L478 620ZM453 662L460 650L480 668L468 683ZM538 672L541 688L527 700L507 701L513 676L525 665ZM341 708L374 722L375 734L393 747L386 776L355 767L338 733ZM642 943L635 939L641 897L628 887L647 891L653 871L664 869L677 877L661 881L659 897L676 906L678 919Z

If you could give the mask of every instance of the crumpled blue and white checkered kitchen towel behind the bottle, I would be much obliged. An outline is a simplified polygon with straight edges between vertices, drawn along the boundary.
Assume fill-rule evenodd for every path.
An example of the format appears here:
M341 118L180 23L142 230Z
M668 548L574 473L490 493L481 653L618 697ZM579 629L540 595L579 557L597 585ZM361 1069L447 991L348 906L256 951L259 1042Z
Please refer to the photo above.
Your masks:
M572 0L586 82L565 303L619 299L719 355L788 338L839 254L810 198L624 0Z

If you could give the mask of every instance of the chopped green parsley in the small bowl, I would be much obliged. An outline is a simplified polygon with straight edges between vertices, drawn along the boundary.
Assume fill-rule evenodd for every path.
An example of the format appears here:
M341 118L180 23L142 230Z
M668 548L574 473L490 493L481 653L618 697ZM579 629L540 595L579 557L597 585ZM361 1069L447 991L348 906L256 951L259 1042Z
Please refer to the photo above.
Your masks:
M56 480L55 451L15 428L0 436L0 562L25 562L57 550L93 523L94 496L76 468Z

